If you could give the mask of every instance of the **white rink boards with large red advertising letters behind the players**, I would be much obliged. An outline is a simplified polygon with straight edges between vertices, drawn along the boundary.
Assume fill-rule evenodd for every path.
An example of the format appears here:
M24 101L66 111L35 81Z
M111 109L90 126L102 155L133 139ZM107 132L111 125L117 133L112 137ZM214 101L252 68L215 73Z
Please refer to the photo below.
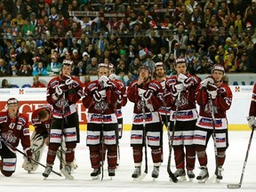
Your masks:
M252 98L252 85L230 86L233 92L233 101L231 108L227 111L228 129L229 130L248 130L246 116L248 116L249 107ZM31 115L36 108L47 104L45 88L12 88L0 89L0 110L3 110L6 101L9 98L16 98L20 102L20 112L28 115L29 123L31 124ZM134 104L128 100L126 106L122 109L124 116L124 130L131 130L132 127L132 111ZM198 106L197 106L198 107ZM79 100L76 103L77 112L79 115L80 129L85 130L87 124L86 108ZM199 111L199 108L197 108ZM129 111L129 113L125 113Z

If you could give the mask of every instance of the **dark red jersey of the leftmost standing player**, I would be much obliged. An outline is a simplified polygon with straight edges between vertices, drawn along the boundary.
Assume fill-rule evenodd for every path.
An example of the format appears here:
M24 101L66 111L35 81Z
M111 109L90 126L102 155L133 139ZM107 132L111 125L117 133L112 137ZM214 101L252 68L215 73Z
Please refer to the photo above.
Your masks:
M71 76L73 80L73 88L68 90L68 86L65 85L67 80L66 76L56 76L48 83L46 89L46 100L52 105L52 116L61 117L69 116L76 112L76 102L83 97L83 84L76 77ZM53 94L55 94L55 88L60 86L63 90L63 94L60 95L58 100L54 100ZM63 109L64 108L64 112Z

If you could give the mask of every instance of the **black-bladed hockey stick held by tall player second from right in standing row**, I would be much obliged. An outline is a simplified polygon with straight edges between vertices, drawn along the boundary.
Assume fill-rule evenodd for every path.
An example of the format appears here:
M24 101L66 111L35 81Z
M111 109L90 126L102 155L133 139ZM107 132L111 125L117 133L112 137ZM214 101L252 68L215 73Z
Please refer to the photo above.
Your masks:
M167 163L167 172L169 174L169 178L171 178L171 180L174 183L177 183L178 179L175 177L175 175L173 174L173 172L171 170L171 159L172 159L173 138L174 138L174 132L175 132L175 127L176 127L176 123L177 123L177 116L178 116L179 107L180 107L180 92L178 93L176 110L175 110L175 114L174 114L174 122L173 122L173 126L172 126L172 137L170 137L170 132L169 132L170 127L167 128L167 134L168 134L168 139L169 139L169 156L168 156L168 163Z

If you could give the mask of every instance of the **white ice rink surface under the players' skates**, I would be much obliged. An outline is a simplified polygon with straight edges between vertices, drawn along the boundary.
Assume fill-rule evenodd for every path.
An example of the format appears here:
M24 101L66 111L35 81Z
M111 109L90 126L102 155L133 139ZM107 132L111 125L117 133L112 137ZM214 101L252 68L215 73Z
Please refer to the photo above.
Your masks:
M65 180L64 176L60 177L53 172L47 180L44 180L42 172L44 167L39 166L36 172L28 173L21 168L23 157L19 153L16 172L11 178L5 178L0 173L0 192L75 192L75 191L96 191L96 192L151 192L151 191L175 191L175 192L215 192L215 191L256 191L256 133L253 136L252 147L246 169L244 172L244 181L242 188L228 189L227 184L239 183L241 172L244 164L244 157L247 150L251 132L229 132L229 148L227 151L226 163L224 164L223 180L220 183L205 183L199 184L197 180L179 181L173 183L169 180L166 172L166 165L169 155L167 132L164 132L164 163L160 167L160 175L157 180L151 178L153 169L152 159L150 155L150 148L148 148L148 175L140 182L133 182L132 172L134 170L132 160L132 148L130 147L130 132L124 132L122 140L120 140L120 165L116 170L116 177L112 180L108 177L108 166L104 165L104 179L92 180L90 173L92 172L89 150L85 145L86 132L81 132L81 142L76 148L76 163L78 168L73 172L75 180ZM22 149L19 147L19 149ZM210 177L215 169L215 157L212 140L208 144L208 170ZM46 148L44 149L44 156L41 160L45 164ZM144 157L143 157L144 160ZM199 164L196 159L196 175L199 173ZM142 164L142 171L144 171L145 163ZM175 171L172 150L172 172ZM53 166L55 172L59 171L59 160L56 158Z

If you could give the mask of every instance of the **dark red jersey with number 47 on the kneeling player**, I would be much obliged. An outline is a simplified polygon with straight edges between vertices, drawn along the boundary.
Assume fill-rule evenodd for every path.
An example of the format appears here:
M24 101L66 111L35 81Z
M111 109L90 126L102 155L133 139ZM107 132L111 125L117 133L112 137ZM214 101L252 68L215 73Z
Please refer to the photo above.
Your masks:
M13 148L16 148L20 141L23 149L30 148L28 116L18 113L16 118L11 118L8 111L0 112L0 132Z

